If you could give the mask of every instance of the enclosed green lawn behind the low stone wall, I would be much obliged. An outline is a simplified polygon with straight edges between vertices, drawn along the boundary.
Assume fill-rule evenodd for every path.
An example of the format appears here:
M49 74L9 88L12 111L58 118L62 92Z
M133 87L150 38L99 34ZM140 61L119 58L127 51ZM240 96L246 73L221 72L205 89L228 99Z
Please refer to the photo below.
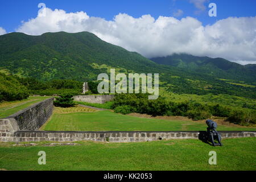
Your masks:
M47 131L198 131L206 130L205 123L139 118L111 111L95 113L54 113L42 128ZM218 126L218 130L253 130L253 127Z

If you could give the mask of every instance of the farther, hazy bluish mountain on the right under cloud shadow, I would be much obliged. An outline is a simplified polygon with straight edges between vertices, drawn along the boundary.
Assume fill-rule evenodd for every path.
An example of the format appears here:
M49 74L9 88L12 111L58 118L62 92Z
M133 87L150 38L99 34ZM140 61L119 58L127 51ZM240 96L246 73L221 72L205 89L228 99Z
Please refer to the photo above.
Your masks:
M235 80L256 80L256 65L241 65L222 58L192 56L185 53L151 59L155 63L172 65L188 71L205 73L209 76Z

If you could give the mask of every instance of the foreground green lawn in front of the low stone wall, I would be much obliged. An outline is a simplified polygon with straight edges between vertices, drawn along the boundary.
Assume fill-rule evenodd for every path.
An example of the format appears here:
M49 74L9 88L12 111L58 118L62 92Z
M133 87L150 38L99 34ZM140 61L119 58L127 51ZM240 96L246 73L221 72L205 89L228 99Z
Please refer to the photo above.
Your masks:
M0 168L7 170L255 170L255 138L224 139L213 147L196 139L139 143L76 142L80 146L12 146L0 143ZM46 165L38 152L46 152ZM210 165L216 151L217 165Z

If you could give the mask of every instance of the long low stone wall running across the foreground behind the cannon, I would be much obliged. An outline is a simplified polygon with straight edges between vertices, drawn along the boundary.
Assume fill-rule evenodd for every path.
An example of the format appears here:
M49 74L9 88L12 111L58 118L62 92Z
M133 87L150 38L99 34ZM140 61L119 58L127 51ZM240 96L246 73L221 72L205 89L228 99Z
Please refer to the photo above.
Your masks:
M6 127L6 122L5 127ZM2 127L2 126L1 126ZM73 142L93 140L100 142L147 142L164 139L198 139L206 131L16 131L0 141L13 142ZM220 131L222 138L256 137L256 131Z

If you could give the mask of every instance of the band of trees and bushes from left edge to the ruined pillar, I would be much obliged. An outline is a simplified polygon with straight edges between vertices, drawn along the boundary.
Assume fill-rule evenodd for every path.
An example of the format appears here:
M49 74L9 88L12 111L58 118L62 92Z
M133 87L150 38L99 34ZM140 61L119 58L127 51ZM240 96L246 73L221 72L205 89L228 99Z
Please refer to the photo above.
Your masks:
M27 98L29 95L55 96L77 95L82 93L82 82L75 80L39 81L36 78L21 78L0 73L0 102L15 101ZM89 81L89 92L98 94L98 82Z

